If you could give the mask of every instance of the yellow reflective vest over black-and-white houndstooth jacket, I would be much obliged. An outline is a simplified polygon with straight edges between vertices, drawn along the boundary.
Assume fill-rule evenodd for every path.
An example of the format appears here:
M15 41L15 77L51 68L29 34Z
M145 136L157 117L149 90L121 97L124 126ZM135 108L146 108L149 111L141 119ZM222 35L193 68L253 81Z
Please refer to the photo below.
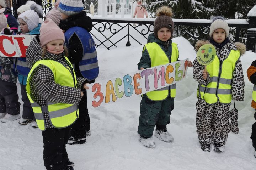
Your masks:
M68 58L66 58L66 60L69 62ZM68 127L71 124L73 124L76 121L76 119L79 117L77 104L47 102L47 106L41 107L39 106L38 103L34 102L31 98L31 91L30 91L31 75L34 72L34 70L40 65L46 66L52 71L54 75L54 81L57 84L76 88L76 76L75 74L73 74L74 70L72 73L72 71L69 68L63 66L63 64L54 60L39 60L34 64L32 69L30 70L28 74L27 85L26 85L28 99L30 100L38 128L41 130L46 129L43 113L49 114L50 123L53 125L54 128ZM70 66L71 66L71 63L70 63Z

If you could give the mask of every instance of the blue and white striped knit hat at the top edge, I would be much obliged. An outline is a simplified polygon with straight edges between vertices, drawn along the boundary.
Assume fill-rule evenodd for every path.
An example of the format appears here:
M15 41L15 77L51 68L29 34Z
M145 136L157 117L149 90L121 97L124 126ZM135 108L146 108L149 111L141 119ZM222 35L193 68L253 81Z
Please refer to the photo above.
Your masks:
M84 9L82 0L60 0L58 10L66 15L74 15L80 13Z

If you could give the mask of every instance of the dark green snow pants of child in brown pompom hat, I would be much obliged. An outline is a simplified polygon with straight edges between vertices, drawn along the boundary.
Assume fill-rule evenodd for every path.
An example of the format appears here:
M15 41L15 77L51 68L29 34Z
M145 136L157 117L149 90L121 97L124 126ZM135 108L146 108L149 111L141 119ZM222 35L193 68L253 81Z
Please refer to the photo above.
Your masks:
M155 124L167 125L170 123L173 109L174 98L168 97L163 101L151 101L146 95L143 95L140 102L138 134L143 137L151 137Z

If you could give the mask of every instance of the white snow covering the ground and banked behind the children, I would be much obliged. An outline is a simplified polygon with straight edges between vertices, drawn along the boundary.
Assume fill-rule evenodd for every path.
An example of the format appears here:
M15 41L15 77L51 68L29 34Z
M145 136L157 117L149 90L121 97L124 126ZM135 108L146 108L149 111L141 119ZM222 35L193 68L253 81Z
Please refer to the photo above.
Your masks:
M146 41L146 40L145 40ZM196 57L189 42L174 38L180 59ZM97 48L100 75L104 80L115 74L137 70L143 46L118 47L111 50ZM236 102L239 111L239 134L229 134L224 153L203 152L196 133L195 104L197 82L192 68L186 78L177 84L175 109L170 117L168 131L173 143L160 141L153 136L156 147L146 148L137 134L140 97L89 109L91 136L84 145L66 145L69 159L76 170L252 170L256 167L254 148L250 139L254 112L251 108L253 85L246 70L256 54L246 51L241 57L245 76L245 101ZM20 86L20 85L18 85ZM19 96L21 92L19 91ZM21 102L21 97L20 97ZM22 103L22 102L21 102ZM233 108L231 104L231 108ZM22 108L21 108L22 110ZM44 170L42 132L31 124L23 126L18 120L0 123L1 170Z

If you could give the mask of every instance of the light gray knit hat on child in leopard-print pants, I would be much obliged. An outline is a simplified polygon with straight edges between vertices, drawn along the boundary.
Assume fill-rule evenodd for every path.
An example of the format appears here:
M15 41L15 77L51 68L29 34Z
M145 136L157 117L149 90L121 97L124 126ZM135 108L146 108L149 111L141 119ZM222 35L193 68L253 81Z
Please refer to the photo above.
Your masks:
M210 26L210 37L212 37L212 34L216 29L222 28L225 30L226 38L227 38L228 34L229 34L229 27L228 27L228 23L226 23L225 19L220 16L213 17L211 19L213 22Z

